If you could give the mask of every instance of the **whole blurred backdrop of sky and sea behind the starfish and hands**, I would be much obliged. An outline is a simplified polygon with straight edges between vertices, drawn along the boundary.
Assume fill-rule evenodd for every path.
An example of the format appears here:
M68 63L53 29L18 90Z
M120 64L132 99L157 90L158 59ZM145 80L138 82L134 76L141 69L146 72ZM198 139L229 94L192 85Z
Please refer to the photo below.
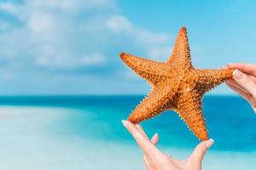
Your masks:
M165 61L186 26L193 65L255 63L256 2L1 0L0 167L143 169L121 125L150 86L120 52ZM205 169L254 169L256 116L227 86L204 99L215 139ZM176 113L143 122L185 158L199 142ZM234 163L236 162L236 163Z

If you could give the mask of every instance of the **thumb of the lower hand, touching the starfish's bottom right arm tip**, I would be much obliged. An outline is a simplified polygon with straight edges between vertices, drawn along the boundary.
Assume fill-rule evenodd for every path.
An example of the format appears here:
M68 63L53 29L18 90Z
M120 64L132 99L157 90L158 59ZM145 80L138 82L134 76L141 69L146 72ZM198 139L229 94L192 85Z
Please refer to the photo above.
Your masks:
M201 142L200 144L197 144L197 146L195 147L195 150L190 156L190 159L201 162L207 150L212 146L213 143L214 143L213 139L208 139L206 141Z

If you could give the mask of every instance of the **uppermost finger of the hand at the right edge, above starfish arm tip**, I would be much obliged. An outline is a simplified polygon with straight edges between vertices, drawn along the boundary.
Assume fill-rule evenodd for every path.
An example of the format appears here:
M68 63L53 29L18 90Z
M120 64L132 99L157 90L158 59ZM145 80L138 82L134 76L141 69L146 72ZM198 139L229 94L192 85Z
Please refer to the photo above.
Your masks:
M238 69L242 72L246 72L246 73L252 74L253 76L256 76L256 65L253 65L253 64L234 63L234 64L229 64L228 67Z

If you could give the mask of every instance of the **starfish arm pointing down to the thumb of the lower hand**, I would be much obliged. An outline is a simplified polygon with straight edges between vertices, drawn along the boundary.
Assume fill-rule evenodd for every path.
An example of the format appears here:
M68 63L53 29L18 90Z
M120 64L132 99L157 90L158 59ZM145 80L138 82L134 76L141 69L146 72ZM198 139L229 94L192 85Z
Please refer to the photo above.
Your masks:
M201 110L201 100L201 95L195 92L181 94L176 111L198 139L207 140L208 134Z

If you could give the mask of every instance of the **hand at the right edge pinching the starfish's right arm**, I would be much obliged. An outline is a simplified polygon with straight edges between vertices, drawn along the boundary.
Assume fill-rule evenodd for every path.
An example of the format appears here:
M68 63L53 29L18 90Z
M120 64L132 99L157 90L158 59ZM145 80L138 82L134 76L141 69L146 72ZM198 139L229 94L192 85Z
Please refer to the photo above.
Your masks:
M226 84L246 99L256 113L256 65L236 63L227 67L236 70L233 72L233 78L226 81Z

